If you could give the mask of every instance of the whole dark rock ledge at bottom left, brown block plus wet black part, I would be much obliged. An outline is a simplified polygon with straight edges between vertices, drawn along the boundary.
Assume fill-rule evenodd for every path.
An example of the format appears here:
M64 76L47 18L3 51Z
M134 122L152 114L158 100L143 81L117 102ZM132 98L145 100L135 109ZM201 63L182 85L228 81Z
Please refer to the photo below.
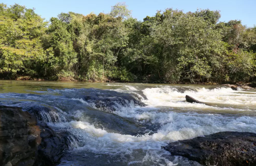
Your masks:
M66 140L19 107L0 105L0 166L58 163Z

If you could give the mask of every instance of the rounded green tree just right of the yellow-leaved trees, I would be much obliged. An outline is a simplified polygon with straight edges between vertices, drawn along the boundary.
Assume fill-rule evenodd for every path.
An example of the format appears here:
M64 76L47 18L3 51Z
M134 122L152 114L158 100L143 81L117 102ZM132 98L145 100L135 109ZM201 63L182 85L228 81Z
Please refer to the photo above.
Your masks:
M67 30L68 25L58 18L51 18L50 21L51 25L44 36L44 47L46 50L52 50L48 57L51 65L45 75L57 75L59 80L73 78L75 75L72 67L77 62L77 53L73 48L71 34ZM48 62L45 65L48 65Z

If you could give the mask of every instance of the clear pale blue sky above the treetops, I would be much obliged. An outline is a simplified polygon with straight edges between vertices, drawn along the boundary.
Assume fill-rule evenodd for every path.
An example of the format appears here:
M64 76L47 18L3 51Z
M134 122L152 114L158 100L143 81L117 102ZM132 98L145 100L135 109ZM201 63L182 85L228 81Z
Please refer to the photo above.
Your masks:
M238 19L242 24L253 27L256 24L256 0L2 0L2 3L25 5L35 8L35 12L46 20L56 17L61 12L73 11L80 14L94 12L108 13L117 2L126 2L132 10L132 17L143 20L153 16L157 10L174 8L184 12L196 11L197 8L220 10L220 21Z

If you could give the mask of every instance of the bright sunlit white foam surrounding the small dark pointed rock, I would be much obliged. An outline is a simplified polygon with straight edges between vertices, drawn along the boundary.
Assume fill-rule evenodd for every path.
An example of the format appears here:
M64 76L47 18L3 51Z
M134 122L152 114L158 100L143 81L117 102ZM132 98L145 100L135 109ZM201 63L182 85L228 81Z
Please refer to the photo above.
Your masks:
M158 107L176 107L176 108L208 108L216 109L216 107L208 106L205 104L191 104L185 102L185 96L189 95L202 102L209 102L212 105L236 105L255 107L255 92L248 94L247 91L233 91L231 88L215 88L212 90L205 88L196 88L196 90L187 90L184 92L178 91L174 87L165 86L162 88L146 88L143 90L147 100L143 100L145 104ZM256 107L255 107L256 108ZM218 107L218 109L222 109ZM227 109L227 107L225 107Z

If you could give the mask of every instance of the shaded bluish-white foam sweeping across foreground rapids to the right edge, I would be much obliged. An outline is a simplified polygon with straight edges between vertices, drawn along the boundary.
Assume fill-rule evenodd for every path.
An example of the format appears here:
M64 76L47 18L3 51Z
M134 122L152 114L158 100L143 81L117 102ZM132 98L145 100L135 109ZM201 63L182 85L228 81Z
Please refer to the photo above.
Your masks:
M161 123L161 128L152 135L131 136L109 133L104 129L95 128L90 123L81 121L58 123L53 127L67 128L71 133L73 132L73 135L78 136L78 141L72 143L78 151L87 150L98 155L121 155L119 159L130 165L145 164L145 161L148 160L157 163L162 159L165 161L165 165L175 164L164 157L169 154L161 148L169 142L191 139L220 131L256 132L256 118L248 116L227 117L218 114L170 111L168 113L152 113L152 115L141 113L141 117L151 117L152 123ZM82 146L79 147L79 143L82 143ZM141 151L140 156L137 156L138 150ZM130 159L127 158L127 155Z

